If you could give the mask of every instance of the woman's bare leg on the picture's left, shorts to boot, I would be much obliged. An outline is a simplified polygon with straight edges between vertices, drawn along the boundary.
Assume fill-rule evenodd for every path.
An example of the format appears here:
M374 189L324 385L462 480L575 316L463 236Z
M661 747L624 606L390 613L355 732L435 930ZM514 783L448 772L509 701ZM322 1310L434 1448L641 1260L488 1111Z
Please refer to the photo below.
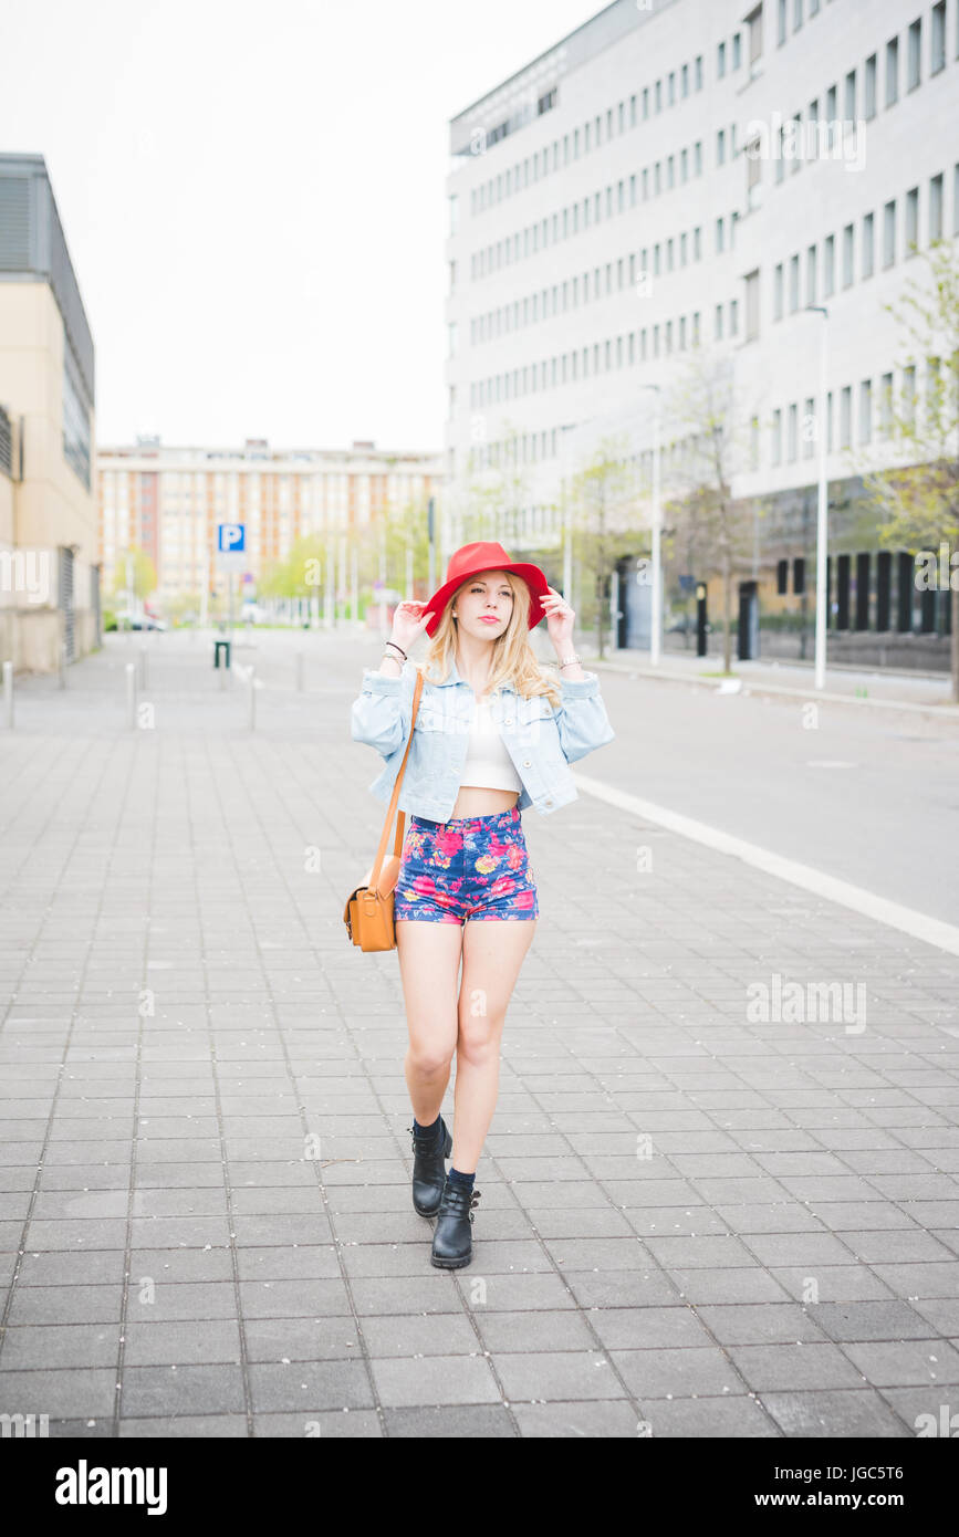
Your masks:
M456 974L463 927L398 918L397 950L409 1030L403 1064L406 1087L413 1116L421 1127L432 1127L456 1050Z

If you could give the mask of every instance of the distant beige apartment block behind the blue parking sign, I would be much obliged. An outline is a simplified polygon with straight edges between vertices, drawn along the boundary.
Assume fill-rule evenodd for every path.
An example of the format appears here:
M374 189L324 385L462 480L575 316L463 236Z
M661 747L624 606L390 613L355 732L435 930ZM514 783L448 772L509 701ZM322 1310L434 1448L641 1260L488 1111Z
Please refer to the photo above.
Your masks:
M132 447L100 447L97 467L103 590L123 584L126 552L140 549L157 570L160 607L223 590L220 524L243 524L241 575L254 581L307 535L330 543L333 567L349 530L390 509L426 507L441 484L440 453L372 443L283 450L247 438L241 449L203 449L140 437Z

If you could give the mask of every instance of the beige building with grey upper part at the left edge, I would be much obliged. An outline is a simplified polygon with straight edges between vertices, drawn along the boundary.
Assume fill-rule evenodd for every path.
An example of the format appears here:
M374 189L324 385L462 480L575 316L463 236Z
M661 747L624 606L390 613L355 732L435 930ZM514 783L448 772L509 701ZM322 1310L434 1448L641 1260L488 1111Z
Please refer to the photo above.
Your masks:
M94 343L41 155L0 155L0 661L100 639Z

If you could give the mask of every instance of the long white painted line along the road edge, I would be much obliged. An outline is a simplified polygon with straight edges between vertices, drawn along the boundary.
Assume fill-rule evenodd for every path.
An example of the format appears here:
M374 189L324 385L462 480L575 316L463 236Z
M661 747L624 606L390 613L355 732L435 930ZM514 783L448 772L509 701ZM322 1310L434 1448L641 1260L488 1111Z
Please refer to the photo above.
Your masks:
M750 864L756 870L765 870L767 875L775 875L781 881L802 887L804 891L811 891L827 902L839 902L854 913L862 913L864 918L888 924L890 928L899 928L904 934L913 934L914 939L922 939L927 945L936 945L939 950L948 950L950 954L959 956L959 928L953 924L944 924L939 918L928 918L927 913L918 913L914 907L902 907L899 902L890 902L885 896L876 896L874 891L867 891L850 881L841 881L838 876L825 875L824 870L813 870L811 865L799 864L796 859L785 859L782 855L775 855L768 848L750 844L744 838L735 838L718 827L710 827L708 822L698 822L692 816L682 816L679 812L670 812L664 805L642 801L638 795L616 790L613 785L604 784L602 779L592 779L587 775L573 772L573 782L578 790L595 796L598 801L606 801L607 805L615 805L621 812L632 812L633 816L642 816L649 822L656 822L672 833L679 833L681 838L692 838L693 842L704 844L707 848L715 848L722 855L732 855L733 859L742 859L744 864Z

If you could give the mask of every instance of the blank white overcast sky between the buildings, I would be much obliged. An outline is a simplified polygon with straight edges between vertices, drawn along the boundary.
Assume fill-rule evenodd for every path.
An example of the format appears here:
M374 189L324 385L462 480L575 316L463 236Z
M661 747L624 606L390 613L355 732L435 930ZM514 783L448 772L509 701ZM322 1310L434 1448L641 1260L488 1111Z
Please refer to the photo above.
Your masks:
M0 0L97 438L440 449L449 118L602 0Z

